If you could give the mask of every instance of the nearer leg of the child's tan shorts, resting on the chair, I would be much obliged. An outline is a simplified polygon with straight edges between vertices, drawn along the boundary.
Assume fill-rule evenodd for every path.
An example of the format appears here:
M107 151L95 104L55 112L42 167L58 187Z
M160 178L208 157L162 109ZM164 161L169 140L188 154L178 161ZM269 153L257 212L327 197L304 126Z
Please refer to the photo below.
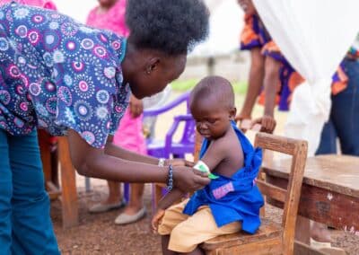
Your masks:
M173 228L169 249L182 253L195 251L197 245L202 242L206 242L218 235L236 233L240 230L241 223L239 222L217 227L211 209L209 207L200 207L196 214L188 217L187 220Z

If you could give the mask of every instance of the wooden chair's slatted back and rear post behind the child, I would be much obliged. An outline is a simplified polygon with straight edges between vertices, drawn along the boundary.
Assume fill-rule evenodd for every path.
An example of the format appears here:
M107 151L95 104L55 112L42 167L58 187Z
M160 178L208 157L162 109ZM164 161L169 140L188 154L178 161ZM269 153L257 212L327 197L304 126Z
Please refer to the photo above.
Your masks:
M308 144L302 140L258 133L254 145L264 150L292 155L291 171L286 190L271 185L265 180L257 180L257 185L262 194L267 196L267 198L273 198L284 203L285 207L282 218L283 254L293 254L295 223L301 198Z

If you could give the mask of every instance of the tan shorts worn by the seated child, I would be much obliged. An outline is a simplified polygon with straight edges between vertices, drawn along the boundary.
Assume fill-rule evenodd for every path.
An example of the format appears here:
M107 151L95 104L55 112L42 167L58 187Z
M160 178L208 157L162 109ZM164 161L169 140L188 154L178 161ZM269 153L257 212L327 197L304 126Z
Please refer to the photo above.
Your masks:
M161 235L170 234L168 249L177 252L194 251L197 245L218 235L236 233L241 230L240 222L218 227L208 206L199 207L194 215L183 214L188 199L169 207L158 227Z

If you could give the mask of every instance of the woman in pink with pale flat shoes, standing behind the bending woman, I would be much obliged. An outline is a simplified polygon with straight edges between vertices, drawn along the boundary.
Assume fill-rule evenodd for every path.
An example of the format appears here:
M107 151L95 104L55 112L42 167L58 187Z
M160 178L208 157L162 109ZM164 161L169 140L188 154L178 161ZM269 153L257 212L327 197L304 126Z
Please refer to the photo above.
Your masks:
M99 5L92 9L86 24L98 29L108 29L118 35L127 37L129 31L125 22L126 0L99 0ZM122 117L113 143L137 154L146 154L146 146L142 131L141 100L131 95L129 107ZM91 213L102 213L126 205L121 198L120 183L108 180L109 197L89 208ZM116 224L134 223L146 214L143 203L144 183L131 183L130 198L123 213L118 215Z

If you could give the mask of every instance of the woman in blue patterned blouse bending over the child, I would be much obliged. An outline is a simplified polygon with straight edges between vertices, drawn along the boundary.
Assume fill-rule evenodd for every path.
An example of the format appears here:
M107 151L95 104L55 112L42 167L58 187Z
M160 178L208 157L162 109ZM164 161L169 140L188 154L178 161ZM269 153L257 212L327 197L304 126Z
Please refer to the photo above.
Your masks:
M82 175L165 182L183 191L209 182L184 161L172 166L128 152L113 145L111 136L130 91L142 99L183 72L188 51L206 38L206 6L199 0L129 0L126 15L128 40L54 11L16 3L0 8L4 254L58 254L36 128L67 134L71 159Z

